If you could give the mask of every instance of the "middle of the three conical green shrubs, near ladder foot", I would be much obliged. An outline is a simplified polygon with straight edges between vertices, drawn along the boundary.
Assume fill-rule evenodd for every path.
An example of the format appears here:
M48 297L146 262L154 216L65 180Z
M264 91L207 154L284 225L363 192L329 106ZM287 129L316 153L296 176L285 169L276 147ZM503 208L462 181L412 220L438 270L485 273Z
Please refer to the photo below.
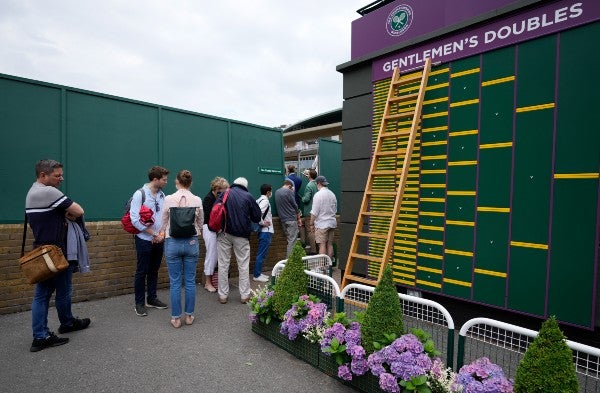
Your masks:
M373 297L369 300L364 320L360 327L362 344L367 353L376 350L374 342L389 341L386 334L400 337L404 334L402 322L402 303L392 281L392 268L387 265Z

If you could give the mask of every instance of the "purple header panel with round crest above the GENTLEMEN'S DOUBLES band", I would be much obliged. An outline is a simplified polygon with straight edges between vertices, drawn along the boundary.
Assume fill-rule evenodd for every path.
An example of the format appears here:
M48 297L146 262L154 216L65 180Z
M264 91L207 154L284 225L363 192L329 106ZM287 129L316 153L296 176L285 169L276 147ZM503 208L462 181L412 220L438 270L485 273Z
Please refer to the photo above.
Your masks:
M516 0L399 0L352 22L351 59L517 3Z

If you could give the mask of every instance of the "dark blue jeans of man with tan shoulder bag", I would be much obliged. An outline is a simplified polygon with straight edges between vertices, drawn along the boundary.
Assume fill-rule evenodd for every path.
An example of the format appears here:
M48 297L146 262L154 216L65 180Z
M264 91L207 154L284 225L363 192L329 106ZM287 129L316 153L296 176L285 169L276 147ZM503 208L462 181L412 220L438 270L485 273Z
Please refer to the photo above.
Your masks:
M48 329L48 308L50 298L56 291L54 304L58 314L58 320L63 326L73 324L73 313L71 312L71 295L73 293L73 265L58 273L52 278L35 284L35 293L31 303L31 328L33 338L44 339L50 335Z

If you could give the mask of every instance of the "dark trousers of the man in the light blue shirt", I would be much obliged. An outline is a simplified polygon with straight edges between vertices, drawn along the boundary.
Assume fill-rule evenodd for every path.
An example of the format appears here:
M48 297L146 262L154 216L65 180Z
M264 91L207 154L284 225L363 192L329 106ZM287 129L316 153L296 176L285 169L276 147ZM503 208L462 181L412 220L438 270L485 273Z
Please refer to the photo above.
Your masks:
M135 304L144 304L146 287L148 300L156 299L158 269L160 268L163 249L163 243L152 243L135 236L135 250L138 260L133 281Z

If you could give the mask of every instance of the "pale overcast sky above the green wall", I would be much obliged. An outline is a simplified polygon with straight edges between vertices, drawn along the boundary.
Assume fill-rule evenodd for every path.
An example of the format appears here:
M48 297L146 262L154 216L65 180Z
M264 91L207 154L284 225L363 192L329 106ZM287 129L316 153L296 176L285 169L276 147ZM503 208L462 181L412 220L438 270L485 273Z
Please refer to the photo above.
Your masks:
M0 73L264 126L342 106L369 0L0 0Z

